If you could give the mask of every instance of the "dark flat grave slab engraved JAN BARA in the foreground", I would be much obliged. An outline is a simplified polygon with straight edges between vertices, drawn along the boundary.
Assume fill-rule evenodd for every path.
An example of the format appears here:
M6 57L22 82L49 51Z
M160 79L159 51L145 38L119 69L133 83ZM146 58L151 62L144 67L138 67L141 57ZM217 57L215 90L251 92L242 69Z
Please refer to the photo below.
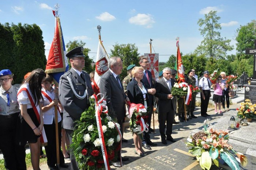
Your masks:
M196 157L188 153L188 148L185 145L186 140L187 138L183 138L118 170L201 170L202 168L199 162L196 161ZM251 159L250 155L248 155L248 159ZM254 159L256 158L254 157ZM250 162L246 169L252 170ZM225 165L220 165L220 167L212 165L211 170L231 169ZM241 167L241 170L245 169Z

